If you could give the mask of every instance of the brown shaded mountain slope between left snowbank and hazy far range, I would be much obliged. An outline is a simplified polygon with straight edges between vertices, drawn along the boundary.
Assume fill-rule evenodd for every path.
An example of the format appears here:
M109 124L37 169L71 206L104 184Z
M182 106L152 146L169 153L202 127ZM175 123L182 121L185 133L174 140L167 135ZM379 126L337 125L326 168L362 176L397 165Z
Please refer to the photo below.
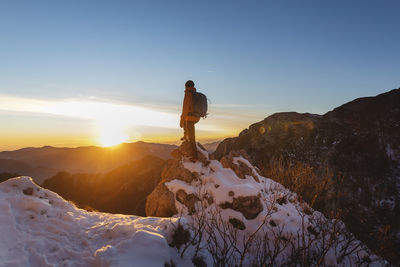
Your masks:
M42 186L81 208L145 216L146 197L159 183L164 164L148 155L107 173L59 172Z

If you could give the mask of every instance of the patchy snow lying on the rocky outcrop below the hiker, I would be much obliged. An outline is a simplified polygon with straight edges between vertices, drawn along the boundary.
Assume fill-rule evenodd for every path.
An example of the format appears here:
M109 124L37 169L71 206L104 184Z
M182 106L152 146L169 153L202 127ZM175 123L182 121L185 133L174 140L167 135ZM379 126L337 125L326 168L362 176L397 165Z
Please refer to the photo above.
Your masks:
M208 156L206 155L208 159ZM324 222L326 226L334 226L338 227L340 231L346 231L345 226L341 221L335 219L327 219L323 216L322 213L318 211L313 211L306 203L300 202L295 193L290 192L284 186L275 181L262 177L258 174L256 168L254 168L251 163L244 159L243 157L234 157L233 163L239 165L242 162L246 166L248 166L252 170L252 175L258 178L253 178L252 176L246 175L245 179L239 178L232 169L223 168L222 164L217 160L210 160L210 163L205 167L202 163L196 162L183 162L183 165L186 169L191 172L197 172L201 174L199 181L193 181L191 184L188 184L181 180L172 180L168 183L165 183L167 188L176 193L178 190L184 190L187 194L196 194L202 199L201 196L212 196L214 199L214 204L207 207L199 207L205 209L205 214L215 214L215 211L221 215L224 220L229 220L230 218L236 218L242 221L246 229L240 231L238 240L244 239L243 237L249 236L264 223L264 220L267 220L267 223L264 224L264 228L266 231L272 232L276 231L269 227L269 222L273 221L277 226L282 229L282 233L284 236L297 236L300 229L307 229L308 227L312 227L312 229L323 228L322 225L316 225L317 220L321 220ZM233 192L233 195L232 195ZM217 207L225 202L232 202L234 198L238 196L258 196L261 198L261 202L263 205L263 211L257 215L254 219L246 219L243 214L239 211L235 211L233 209L218 209ZM286 201L283 203L277 203L279 198L285 198ZM200 205L200 204L198 204ZM204 204L203 204L204 205ZM188 210L186 206L181 204L179 201L175 200L175 206L178 208L181 214L188 214ZM305 210L308 210L307 214ZM214 212L214 213L213 213ZM214 215L206 215L212 220L212 216ZM187 220L190 221L190 216L187 216ZM326 227L325 226L325 227ZM276 228L279 228L276 227ZM299 242L309 242L309 238L313 238L310 234L306 235L305 240ZM328 237L325 237L328 238ZM339 236L338 240L344 239L344 236ZM322 237L321 237L322 239ZM326 239L327 240L327 239ZM321 245L321 240L313 241L316 247ZM359 244L359 241L355 240L352 245L354 247ZM341 250L341 245L336 247L332 247L326 253L324 258L325 264L327 265L338 265L337 255ZM285 253L281 254L281 257L284 257ZM359 257L370 256L374 258L374 255L368 255L366 252L361 252L359 254L354 253L348 257L345 262L341 262L345 265L354 265ZM376 257L375 257L376 258ZM379 264L375 264L377 266ZM374 266L374 264L372 264Z

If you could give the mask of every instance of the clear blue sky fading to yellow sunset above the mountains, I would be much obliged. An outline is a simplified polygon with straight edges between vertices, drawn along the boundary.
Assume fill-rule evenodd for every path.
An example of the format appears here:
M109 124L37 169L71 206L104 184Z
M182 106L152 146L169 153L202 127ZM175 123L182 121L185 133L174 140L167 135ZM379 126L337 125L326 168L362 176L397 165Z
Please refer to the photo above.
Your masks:
M0 150L201 142L400 87L399 1L0 1Z

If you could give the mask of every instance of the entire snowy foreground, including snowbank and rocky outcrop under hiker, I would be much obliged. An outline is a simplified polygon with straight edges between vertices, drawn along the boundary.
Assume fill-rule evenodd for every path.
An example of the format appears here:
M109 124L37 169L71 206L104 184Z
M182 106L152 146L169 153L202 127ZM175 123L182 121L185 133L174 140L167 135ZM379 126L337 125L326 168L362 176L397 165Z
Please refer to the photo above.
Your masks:
M147 199L167 218L87 212L29 177L1 183L0 266L381 264L244 157L199 151L196 163L175 152Z

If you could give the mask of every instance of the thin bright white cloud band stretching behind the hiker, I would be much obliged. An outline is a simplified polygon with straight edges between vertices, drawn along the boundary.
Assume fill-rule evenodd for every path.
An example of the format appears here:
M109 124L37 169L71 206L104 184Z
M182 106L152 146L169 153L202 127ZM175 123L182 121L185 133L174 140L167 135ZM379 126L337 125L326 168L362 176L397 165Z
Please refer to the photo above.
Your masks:
M157 107L154 103L141 103L139 106L96 97L55 100L0 95L0 110L91 120L102 128L150 126L177 130L181 106L167 106ZM212 104L209 106L209 116L202 119L196 129L214 135L229 135L263 119L256 113L244 113L243 107L245 105Z

